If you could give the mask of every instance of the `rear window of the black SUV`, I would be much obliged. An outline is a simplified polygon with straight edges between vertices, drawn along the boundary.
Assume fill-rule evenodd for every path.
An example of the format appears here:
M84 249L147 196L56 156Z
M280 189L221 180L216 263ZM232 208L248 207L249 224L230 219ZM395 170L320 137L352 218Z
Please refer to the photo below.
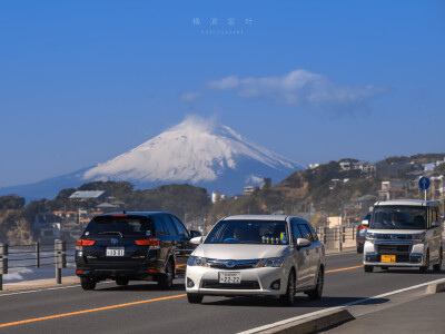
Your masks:
M152 225L149 219L140 216L93 218L85 229L85 235L151 235Z

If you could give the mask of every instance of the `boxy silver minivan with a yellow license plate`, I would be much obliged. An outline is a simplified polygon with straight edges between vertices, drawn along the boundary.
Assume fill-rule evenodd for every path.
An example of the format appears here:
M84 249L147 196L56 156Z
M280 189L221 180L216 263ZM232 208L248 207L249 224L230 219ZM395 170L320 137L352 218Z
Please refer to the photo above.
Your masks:
M442 268L442 226L436 202L400 199L377 202L368 225L363 264L366 273L378 266Z

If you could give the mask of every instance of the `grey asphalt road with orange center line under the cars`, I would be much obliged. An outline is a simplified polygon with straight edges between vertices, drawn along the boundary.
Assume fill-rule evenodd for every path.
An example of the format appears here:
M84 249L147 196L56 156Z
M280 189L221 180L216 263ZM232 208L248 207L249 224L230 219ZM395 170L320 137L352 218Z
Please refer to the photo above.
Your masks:
M205 297L190 305L184 279L172 291L154 283L96 291L67 287L29 294L0 294L0 332L8 333L237 333L322 308L342 305L429 281L445 278L445 271L419 274L417 269L364 273L362 256L329 255L324 297L308 301L297 295L293 307L276 299ZM375 303L385 303L385 298ZM11 324L3 326L1 324Z

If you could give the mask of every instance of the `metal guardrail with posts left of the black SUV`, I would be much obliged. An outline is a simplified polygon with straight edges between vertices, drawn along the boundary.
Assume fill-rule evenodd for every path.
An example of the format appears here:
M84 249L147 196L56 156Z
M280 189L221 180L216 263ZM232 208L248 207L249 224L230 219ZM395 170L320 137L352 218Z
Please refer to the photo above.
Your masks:
M69 243L75 245L75 243ZM29 250L28 250L29 248ZM73 247L72 247L73 248ZM52 253L48 255L48 253ZM73 258L73 255L71 255ZM52 259L52 262L51 262ZM23 262L36 261L34 264L24 264ZM7 275L12 268L27 268L41 266L55 266L56 283L62 283L61 269L67 267L67 242L56 239L53 244L34 243L31 245L0 244L0 291L3 289L3 275Z

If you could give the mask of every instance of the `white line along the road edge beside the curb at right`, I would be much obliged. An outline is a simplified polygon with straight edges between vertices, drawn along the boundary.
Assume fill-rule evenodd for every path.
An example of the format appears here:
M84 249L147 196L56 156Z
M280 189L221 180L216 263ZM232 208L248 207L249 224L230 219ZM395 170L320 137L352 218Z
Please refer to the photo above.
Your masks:
M328 307L328 308L315 311L315 312L312 312L312 313L306 313L306 314L303 314L303 315L299 315L299 316L295 316L295 317L289 317L289 318L286 318L286 320L283 320L283 321L279 321L279 322L276 322L276 323L273 323L273 324L268 324L268 325L264 325L264 326L260 326L260 327L256 327L256 328L247 330L247 331L244 331L244 332L239 332L238 334L258 333L258 332L261 332L261 331L270 330L270 328L276 327L276 326L285 325L285 324L288 324L288 323L291 323L291 322L296 322L296 321L299 321L299 320L304 320L304 318L307 318L307 317L310 317L310 316L314 316L314 315L324 314L324 313L336 311L336 310L343 310L343 308L346 308L347 306L353 306L353 305L366 303L366 302L369 302L369 301L373 301L373 299L387 297L387 296L390 296L390 295L399 294L399 293L403 293L403 292L406 292L406 291L411 291L411 289L416 289L416 288L423 287L425 285L439 283L439 282L444 282L444 281L445 281L445 278L439 278L439 279L435 279L435 281L431 281L431 282L413 285L413 286L408 286L408 287L405 287L405 288L395 289L395 291L392 291L392 292L388 292L388 293L376 295L374 297L367 297L367 298L358 299L358 301L355 301L355 302L349 302L349 303L346 303L346 304L342 304L342 305L338 305L338 306Z

